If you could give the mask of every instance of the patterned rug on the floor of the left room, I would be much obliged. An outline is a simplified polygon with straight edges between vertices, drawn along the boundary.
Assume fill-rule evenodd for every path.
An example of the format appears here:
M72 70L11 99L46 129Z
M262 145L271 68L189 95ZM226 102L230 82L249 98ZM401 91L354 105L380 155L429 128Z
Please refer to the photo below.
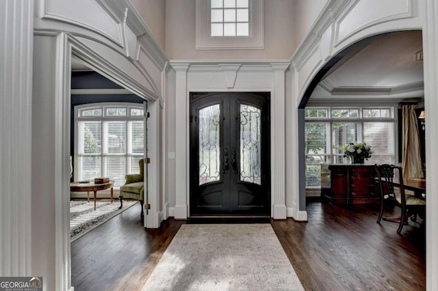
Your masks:
M90 202L70 201L70 243L136 203L136 200L123 199L123 208L118 209L120 207L118 199L114 199L113 203L110 199L101 199L96 202L96 210L94 210L92 199Z

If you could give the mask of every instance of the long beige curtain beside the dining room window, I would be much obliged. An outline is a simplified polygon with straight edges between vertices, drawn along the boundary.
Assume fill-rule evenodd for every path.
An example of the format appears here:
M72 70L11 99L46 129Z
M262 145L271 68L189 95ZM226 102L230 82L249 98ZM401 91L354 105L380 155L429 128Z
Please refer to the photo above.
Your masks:
M422 178L422 156L415 105L403 105L403 177Z

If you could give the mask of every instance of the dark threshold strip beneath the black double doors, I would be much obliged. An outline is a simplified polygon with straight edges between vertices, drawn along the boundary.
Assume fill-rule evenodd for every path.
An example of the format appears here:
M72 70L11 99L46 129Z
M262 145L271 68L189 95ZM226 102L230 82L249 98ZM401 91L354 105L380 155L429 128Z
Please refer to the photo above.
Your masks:
M192 216L189 217L187 223L189 224L201 224L201 223L270 223L271 217L268 215L205 215L205 216Z

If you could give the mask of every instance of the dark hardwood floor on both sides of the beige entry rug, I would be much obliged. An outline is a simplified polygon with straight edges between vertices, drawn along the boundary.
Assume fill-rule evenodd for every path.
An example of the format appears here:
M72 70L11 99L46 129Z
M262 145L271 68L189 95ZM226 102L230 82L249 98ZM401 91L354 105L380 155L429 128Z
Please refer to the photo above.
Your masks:
M425 290L425 233L376 223L374 206L307 205L308 223L272 221L305 290ZM185 221L144 230L136 205L71 245L75 290L141 290Z

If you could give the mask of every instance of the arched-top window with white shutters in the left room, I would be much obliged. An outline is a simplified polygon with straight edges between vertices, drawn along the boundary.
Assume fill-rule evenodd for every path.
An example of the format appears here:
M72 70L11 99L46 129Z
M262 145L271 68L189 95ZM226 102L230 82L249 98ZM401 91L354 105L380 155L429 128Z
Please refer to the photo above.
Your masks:
M120 188L126 174L139 173L144 157L142 106L94 104L75 110L75 180L108 177Z

